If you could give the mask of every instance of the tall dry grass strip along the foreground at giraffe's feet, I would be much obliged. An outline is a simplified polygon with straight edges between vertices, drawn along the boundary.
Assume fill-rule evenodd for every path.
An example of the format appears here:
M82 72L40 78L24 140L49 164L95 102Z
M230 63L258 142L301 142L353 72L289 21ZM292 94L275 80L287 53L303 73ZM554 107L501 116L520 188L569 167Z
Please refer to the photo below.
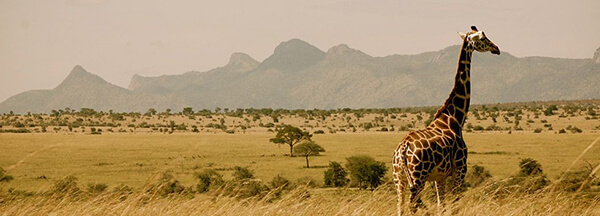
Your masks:
M456 202L438 207L432 199L416 215L600 215L598 192L511 192L489 182L466 191ZM13 195L17 196L17 195ZM447 199L450 200L450 199ZM405 209L407 212L408 209ZM394 215L396 192L390 185L374 191L297 187L278 199L236 198L224 193L159 196L147 192L97 196L34 195L0 198L2 215Z

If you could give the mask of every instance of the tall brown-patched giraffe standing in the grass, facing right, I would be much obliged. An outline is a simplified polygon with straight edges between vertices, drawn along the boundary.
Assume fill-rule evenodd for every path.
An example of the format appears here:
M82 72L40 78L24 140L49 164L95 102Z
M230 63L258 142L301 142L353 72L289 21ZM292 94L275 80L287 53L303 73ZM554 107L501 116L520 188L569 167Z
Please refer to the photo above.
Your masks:
M500 50L483 31L471 26L471 31L459 33L463 39L454 88L444 105L435 113L425 128L409 132L394 152L393 175L398 192L398 215L404 206L404 190L410 189L413 210L422 206L419 193L425 182L439 184L440 197L445 191L446 179L452 179L452 191L463 183L467 173L467 146L462 127L469 111L471 94L470 68L473 51L500 55Z

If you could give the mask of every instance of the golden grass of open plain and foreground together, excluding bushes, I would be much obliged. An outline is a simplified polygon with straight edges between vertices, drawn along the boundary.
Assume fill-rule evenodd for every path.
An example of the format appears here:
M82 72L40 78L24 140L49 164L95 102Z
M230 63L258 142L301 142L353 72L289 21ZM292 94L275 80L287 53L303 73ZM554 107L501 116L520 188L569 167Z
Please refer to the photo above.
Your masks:
M325 168L303 168L304 159L283 156L288 149L269 143L272 133L258 134L1 134L0 166L15 179L0 183L2 215L394 215L396 192L389 185L371 191L309 189L302 186L280 199L235 198L195 194L152 196L144 187L158 173L172 172L186 186L197 180L195 171L220 170L230 179L233 166L247 166L256 177L270 181L282 175L291 180L311 177L322 181ZM329 161L367 154L391 165L391 152L403 133L337 133L315 135L327 152L311 159L315 166ZM467 133L469 163L490 170L495 181L467 190L453 203L437 207L431 189L416 215L600 215L600 195L566 193L544 189L536 193L511 193L496 184L518 171L525 157L538 160L552 180L562 171L583 162L600 163L598 145L590 145L596 134L500 134ZM587 153L581 154L583 151ZM272 156L274 155L274 156ZM578 155L580 155L578 157ZM112 192L96 196L56 197L48 191L55 180L76 176L80 187L124 183L136 188L126 197ZM388 178L390 173L387 174ZM46 176L49 179L40 179ZM37 195L10 193L8 188L33 191ZM496 195L502 192L502 195ZM308 196L307 196L308 195ZM584 196L585 195L585 196ZM449 200L449 199L448 199ZM408 209L405 209L408 211Z

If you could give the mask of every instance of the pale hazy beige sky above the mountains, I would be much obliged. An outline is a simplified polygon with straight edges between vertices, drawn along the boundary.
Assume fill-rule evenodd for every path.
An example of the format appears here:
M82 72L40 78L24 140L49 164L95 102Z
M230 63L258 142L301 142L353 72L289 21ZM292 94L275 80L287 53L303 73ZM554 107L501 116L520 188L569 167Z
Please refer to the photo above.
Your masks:
M518 57L591 58L599 23L598 0L0 0L0 101L54 88L75 65L127 87L134 74L206 71L233 52L262 61L292 38L416 54L477 25Z

